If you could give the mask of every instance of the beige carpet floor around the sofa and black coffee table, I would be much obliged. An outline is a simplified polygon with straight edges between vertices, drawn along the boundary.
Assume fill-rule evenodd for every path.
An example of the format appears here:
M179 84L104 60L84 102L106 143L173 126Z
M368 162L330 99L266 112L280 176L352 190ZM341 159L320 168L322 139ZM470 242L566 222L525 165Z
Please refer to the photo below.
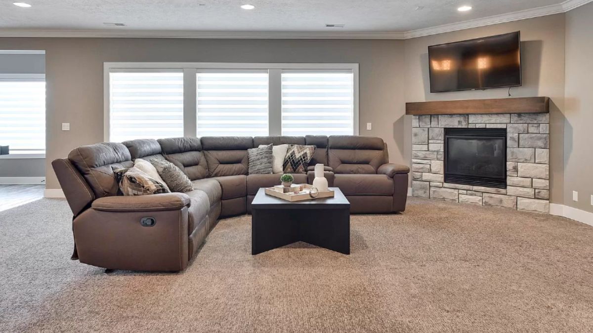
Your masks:
M593 227L560 217L413 198L352 216L351 255L252 256L240 216L178 274L70 261L70 219L55 199L0 212L1 332L593 331Z

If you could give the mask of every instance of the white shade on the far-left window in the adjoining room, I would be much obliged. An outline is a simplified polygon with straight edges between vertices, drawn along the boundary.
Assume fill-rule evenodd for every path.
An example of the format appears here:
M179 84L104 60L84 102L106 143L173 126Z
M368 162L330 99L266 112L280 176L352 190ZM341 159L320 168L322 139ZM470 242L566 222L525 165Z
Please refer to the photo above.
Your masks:
M0 146L45 153L45 81L0 80Z

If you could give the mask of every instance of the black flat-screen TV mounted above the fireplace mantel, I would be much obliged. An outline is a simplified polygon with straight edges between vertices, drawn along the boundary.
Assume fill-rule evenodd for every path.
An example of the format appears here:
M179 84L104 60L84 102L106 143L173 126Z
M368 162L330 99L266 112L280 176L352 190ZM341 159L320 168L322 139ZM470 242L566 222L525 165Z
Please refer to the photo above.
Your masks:
M428 47L431 92L521 85L519 31Z

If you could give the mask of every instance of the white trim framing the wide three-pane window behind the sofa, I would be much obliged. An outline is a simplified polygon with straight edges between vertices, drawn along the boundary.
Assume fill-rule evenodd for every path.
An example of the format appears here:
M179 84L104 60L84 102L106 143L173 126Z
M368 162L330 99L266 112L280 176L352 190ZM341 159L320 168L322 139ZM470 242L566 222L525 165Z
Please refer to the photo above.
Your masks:
M183 70L184 95L183 95L183 128L184 136L196 136L196 72L201 70L229 70L229 69L265 69L270 71L270 97L269 110L278 110L278 112L269 113L269 135L280 135L281 126L281 94L276 87L275 80L280 80L282 69L301 69L301 70L324 70L324 69L342 69L352 71L353 74L353 132L359 135L359 111L358 111L358 63L220 63L220 62L106 62L103 63L103 135L104 140L109 141L109 73L122 71L165 71L168 69ZM193 82L193 83L192 83ZM276 84L272 86L272 84ZM280 87L280 85L278 85ZM276 114L278 113L278 114Z

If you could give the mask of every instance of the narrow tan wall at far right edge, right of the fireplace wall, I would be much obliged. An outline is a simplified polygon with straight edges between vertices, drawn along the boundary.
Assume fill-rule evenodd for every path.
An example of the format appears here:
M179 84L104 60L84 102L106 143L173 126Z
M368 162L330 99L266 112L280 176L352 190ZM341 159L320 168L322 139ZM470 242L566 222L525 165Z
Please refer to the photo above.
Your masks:
M566 13L565 204L593 213L593 3ZM572 191L579 201L572 201Z

